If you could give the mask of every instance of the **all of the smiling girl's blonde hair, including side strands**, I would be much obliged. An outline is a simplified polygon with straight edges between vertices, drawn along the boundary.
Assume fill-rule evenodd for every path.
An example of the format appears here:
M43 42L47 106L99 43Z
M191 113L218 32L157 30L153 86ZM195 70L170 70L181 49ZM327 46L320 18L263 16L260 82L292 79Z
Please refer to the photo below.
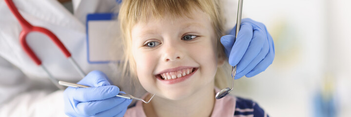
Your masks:
M118 14L124 50L122 78L137 79L136 64L131 52L131 30L135 24L145 23L150 17L155 20L162 20L165 16L189 18L196 8L209 16L216 34L218 58L225 59L223 45L220 44L220 37L224 35L224 19L219 0L123 0ZM218 67L215 85L218 88L227 87L226 78L222 68Z

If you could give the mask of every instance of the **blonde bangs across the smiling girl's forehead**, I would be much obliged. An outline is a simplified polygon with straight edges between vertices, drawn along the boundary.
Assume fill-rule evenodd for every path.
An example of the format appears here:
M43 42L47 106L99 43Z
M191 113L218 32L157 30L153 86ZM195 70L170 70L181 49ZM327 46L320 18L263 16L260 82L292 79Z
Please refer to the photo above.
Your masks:
M138 22L145 23L150 18L163 20L164 17L191 18L191 13L200 9L208 14L217 36L223 35L223 17L219 0L123 0L119 11L122 31L130 31ZM123 33L126 34L126 33Z

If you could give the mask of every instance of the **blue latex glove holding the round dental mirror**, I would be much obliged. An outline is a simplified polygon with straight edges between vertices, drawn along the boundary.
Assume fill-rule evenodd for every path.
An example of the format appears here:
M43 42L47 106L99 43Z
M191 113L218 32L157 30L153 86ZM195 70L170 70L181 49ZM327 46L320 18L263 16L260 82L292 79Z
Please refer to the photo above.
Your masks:
M274 59L274 43L263 23L242 19L235 39L236 25L221 38L229 64L236 66L235 79L253 77L267 69Z

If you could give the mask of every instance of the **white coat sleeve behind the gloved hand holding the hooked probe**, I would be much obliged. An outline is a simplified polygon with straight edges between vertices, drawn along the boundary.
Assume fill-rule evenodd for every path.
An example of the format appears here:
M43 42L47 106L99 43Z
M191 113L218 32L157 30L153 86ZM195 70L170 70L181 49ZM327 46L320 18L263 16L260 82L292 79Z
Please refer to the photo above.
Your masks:
M0 57L0 81L0 117L65 117L63 90L49 80L27 78Z

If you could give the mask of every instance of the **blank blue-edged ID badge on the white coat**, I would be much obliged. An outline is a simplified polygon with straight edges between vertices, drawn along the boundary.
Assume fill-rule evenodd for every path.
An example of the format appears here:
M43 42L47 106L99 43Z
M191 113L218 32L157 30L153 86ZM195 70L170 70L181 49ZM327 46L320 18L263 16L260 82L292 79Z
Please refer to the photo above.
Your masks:
M119 62L123 55L119 23L115 13L88 14L86 20L87 60L90 64ZM120 50L112 55L112 50Z

